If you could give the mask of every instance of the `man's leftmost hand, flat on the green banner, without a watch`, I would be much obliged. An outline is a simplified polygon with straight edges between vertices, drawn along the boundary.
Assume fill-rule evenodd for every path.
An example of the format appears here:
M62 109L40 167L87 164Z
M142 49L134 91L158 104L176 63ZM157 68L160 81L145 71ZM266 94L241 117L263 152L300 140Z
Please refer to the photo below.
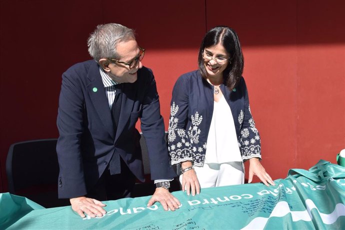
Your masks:
M72 205L73 211L77 212L82 218L85 217L84 212L91 217L100 217L106 213L106 211L102 208L106 205L96 199L80 196L70 198L69 202Z

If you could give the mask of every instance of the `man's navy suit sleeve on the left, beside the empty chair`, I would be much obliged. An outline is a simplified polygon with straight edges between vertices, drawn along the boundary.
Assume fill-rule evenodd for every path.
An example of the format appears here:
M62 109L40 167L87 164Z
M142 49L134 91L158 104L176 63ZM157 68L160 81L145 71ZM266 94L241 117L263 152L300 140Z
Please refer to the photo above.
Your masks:
M84 98L80 82L76 77L63 73L56 122L59 131L56 145L60 169L59 198L72 198L87 193L80 149L83 106Z

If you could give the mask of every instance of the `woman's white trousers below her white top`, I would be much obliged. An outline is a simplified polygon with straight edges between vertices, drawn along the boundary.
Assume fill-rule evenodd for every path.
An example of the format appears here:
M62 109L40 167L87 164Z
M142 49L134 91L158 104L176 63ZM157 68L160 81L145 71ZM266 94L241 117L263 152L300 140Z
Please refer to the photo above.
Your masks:
M203 166L194 166L194 170L201 188L244 183L244 164L241 161L204 163ZM182 176L179 176L181 184Z

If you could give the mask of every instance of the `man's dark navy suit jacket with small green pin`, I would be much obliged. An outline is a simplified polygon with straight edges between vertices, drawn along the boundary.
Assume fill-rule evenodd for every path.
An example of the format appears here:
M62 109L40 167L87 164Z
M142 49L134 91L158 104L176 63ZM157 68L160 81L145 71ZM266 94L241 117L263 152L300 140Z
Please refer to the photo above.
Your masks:
M138 118L147 144L151 179L175 176L169 166L154 76L146 67L137 74L134 83L123 83L116 133L98 64L94 60L77 63L62 74L56 146L59 198L87 194L113 154L120 154L133 174L144 180L140 135L135 128Z

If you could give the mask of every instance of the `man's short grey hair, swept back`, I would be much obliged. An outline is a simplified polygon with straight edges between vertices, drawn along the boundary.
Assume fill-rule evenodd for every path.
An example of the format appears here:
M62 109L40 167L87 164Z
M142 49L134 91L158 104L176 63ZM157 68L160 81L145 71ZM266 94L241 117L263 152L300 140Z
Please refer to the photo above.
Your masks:
M100 58L118 59L116 45L130 39L135 39L131 28L116 23L99 24L87 39L88 53L97 62Z

